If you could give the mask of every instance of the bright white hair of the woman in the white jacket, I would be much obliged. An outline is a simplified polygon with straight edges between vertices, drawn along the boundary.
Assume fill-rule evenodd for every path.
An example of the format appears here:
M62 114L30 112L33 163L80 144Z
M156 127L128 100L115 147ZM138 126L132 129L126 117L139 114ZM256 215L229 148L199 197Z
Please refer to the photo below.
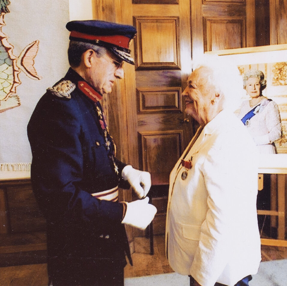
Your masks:
M223 60L220 56L204 54L200 59L192 61L192 69L208 68L211 73L207 81L215 87L217 93L224 96L223 108L235 111L240 99L245 95L242 77L237 65L231 60Z

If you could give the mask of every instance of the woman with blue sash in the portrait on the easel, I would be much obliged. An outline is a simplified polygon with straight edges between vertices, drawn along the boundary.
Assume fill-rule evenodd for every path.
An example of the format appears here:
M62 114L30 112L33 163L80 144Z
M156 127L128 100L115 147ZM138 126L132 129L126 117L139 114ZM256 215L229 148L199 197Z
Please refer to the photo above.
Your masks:
M243 86L250 99L243 101L238 117L246 125L260 153L276 153L274 141L281 138L281 120L277 104L262 95L266 87L263 72L256 69L247 71Z

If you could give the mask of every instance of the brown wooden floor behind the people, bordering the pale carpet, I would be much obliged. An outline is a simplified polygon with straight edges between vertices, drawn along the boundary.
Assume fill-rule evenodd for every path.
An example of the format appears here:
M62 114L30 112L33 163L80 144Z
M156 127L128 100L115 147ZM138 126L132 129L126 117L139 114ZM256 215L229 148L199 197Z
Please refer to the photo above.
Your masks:
M170 273L173 270L165 258L165 238L154 236L154 255L150 255L149 239L138 237L132 254L134 266L125 267L125 277ZM262 261L287 258L287 248L261 246ZM46 286L47 264L0 267L0 286Z

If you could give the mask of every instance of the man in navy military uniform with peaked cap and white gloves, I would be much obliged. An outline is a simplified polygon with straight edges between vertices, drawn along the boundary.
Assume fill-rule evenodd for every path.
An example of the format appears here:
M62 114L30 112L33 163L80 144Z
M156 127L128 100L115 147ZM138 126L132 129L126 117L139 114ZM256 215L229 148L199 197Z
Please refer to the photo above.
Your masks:
M150 173L115 157L100 104L123 62L134 64L128 44L133 26L71 21L71 68L39 100L28 124L31 179L47 219L49 285L123 285L130 252L124 224L145 229L156 208L146 197ZM119 202L118 188L139 198Z

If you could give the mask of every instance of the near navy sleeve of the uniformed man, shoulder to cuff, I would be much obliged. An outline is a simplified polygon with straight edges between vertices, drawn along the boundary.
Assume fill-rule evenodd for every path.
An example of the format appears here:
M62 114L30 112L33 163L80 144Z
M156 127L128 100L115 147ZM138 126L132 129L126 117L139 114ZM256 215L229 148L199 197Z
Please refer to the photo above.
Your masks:
M34 194L50 221L120 223L122 204L98 200L80 187L85 162L77 114L65 99L42 100L36 107L27 129Z

